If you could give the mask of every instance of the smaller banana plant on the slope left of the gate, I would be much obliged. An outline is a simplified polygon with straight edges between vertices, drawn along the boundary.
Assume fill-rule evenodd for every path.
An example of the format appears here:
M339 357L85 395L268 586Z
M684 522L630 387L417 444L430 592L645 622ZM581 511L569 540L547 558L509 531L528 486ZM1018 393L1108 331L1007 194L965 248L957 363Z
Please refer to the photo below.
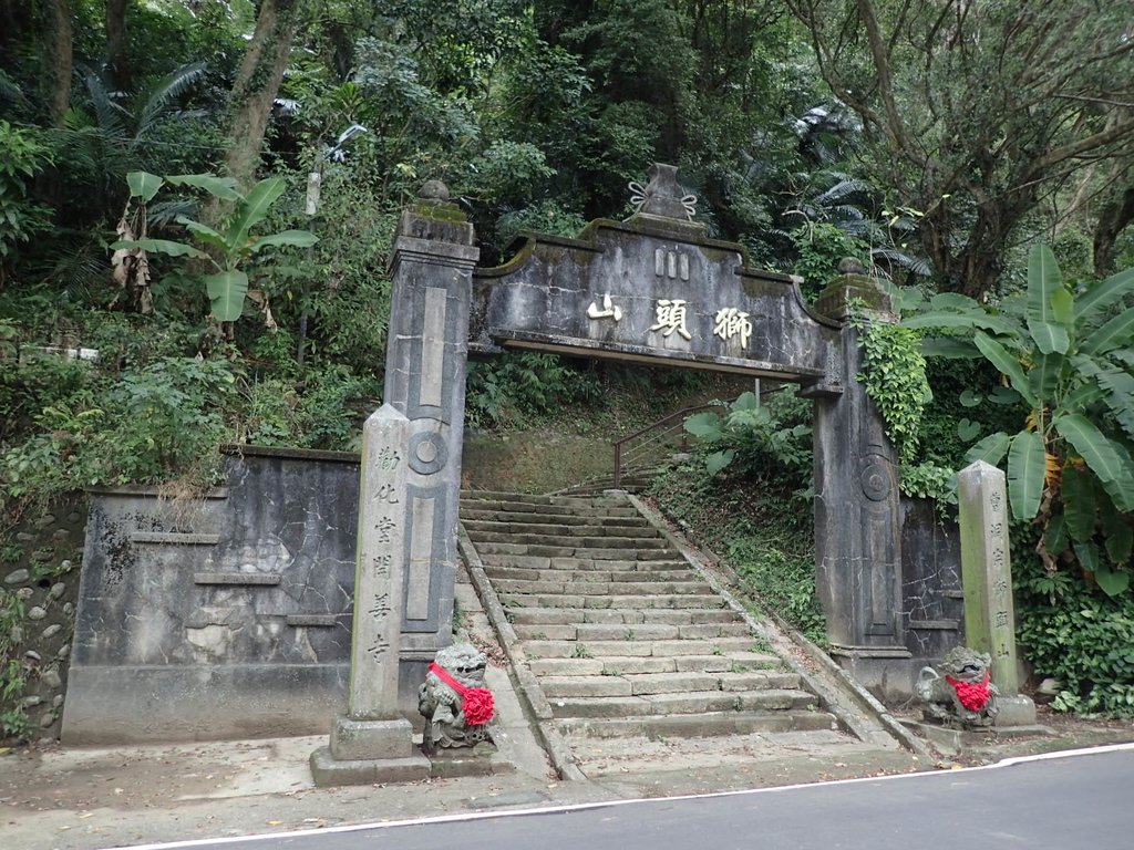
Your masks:
M248 295L248 274L242 267L252 257L268 247L291 246L308 248L319 237L307 230L284 230L266 236L252 236L252 230L268 215L269 207L284 194L281 177L261 180L246 195L237 189L236 180L214 175L179 175L158 177L145 171L132 171L126 177L130 189L130 201L137 198L149 203L166 184L204 189L217 199L230 205L231 212L218 228L178 215L203 250L187 243L169 239L121 239L113 250L153 252L172 257L203 260L212 264L215 272L204 275L205 291L212 315L219 322L235 322L244 312L244 299ZM125 218L125 216L124 216Z

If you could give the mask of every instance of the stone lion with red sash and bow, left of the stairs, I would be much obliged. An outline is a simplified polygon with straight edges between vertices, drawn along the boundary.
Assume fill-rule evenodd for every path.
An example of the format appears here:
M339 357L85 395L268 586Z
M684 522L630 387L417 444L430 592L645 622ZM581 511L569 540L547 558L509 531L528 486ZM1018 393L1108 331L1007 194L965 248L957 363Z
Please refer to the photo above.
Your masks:
M488 725L496 709L492 691L484 687L486 665L488 657L472 644L438 652L417 691L417 711L425 717L425 753L492 739Z

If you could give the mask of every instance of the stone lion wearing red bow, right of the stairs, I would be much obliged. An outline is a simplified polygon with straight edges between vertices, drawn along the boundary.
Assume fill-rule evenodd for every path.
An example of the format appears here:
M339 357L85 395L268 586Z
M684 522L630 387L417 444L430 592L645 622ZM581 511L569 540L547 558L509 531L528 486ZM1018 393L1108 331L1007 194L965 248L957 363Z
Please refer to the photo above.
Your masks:
M991 726L1000 708L1000 691L989 681L992 656L967 646L956 646L946 654L940 668L922 668L915 691L922 700L925 720L963 728Z

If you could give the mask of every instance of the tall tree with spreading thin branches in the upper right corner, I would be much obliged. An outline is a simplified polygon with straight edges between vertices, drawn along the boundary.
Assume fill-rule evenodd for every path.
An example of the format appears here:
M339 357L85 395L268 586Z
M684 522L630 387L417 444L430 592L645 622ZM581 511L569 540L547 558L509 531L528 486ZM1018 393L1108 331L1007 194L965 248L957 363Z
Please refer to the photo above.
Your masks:
M995 289L1025 219L1068 176L1134 153L1129 9L1084 0L787 0L940 289ZM1125 10L1124 10L1125 9Z

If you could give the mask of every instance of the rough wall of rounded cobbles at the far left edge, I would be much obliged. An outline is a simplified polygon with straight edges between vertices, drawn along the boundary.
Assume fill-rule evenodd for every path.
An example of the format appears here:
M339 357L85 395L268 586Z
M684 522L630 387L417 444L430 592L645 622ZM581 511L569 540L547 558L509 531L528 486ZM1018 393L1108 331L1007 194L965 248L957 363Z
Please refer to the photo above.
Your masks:
M59 736L85 521L86 500L71 496L0 543L0 687L23 680L0 702L11 732Z

